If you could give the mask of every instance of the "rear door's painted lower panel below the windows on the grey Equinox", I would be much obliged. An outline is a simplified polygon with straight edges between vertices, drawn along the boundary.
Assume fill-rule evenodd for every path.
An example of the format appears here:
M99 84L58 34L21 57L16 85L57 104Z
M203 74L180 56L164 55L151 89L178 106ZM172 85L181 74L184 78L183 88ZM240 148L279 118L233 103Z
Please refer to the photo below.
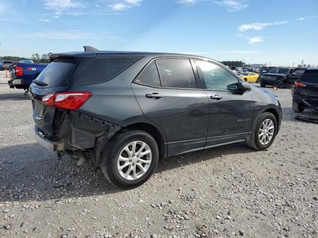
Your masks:
M163 129L168 156L204 147L209 120L209 100L204 90L152 88L135 83L132 89L144 115ZM146 97L154 93L162 97Z

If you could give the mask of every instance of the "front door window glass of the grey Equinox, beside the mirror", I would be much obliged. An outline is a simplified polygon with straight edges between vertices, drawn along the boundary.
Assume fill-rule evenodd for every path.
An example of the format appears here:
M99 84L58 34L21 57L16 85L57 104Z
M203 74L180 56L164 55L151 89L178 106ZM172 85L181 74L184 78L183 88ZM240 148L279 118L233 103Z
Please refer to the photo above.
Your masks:
M201 68L203 78L208 90L236 90L239 80L228 70L221 66L202 60L196 64Z

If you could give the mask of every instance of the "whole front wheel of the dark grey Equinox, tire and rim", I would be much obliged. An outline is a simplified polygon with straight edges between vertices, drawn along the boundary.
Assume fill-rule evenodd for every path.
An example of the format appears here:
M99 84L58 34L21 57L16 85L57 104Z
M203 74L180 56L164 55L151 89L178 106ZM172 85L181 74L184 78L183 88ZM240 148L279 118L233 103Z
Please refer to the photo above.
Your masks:
M247 145L255 150L266 150L277 134L277 120L271 113L265 112L258 119Z

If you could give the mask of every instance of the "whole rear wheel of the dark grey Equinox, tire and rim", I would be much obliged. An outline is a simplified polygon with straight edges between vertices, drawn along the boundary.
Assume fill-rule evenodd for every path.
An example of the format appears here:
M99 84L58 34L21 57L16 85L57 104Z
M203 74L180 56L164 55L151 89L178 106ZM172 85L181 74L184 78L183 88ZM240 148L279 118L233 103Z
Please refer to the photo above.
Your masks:
M156 140L142 130L115 135L102 155L101 171L111 183L121 188L134 188L154 173L159 159Z

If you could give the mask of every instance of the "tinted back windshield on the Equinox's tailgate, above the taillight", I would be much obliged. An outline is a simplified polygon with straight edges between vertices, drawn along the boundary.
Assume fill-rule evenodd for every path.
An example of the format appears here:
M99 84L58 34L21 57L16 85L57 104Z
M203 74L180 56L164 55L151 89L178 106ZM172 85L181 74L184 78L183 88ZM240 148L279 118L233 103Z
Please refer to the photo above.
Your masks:
M68 86L67 83L76 66L75 59L53 60L36 78L46 83L48 88Z

